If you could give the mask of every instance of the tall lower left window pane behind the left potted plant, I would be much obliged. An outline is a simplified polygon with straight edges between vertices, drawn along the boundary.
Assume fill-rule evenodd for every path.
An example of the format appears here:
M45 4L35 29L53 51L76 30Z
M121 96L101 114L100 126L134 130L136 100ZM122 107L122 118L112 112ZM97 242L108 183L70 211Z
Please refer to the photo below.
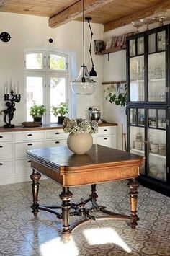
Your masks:
M43 104L43 79L42 77L27 76L27 121L32 121L30 107L34 103Z

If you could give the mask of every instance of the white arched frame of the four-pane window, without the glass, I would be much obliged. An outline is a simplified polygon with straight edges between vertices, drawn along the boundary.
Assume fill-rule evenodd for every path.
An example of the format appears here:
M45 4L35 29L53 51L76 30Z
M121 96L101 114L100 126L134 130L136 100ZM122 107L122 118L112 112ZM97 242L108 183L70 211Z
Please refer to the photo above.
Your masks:
M31 53L42 53L42 69L27 69L26 68L26 55ZM57 70L50 69L50 54L56 54L66 58L66 69ZM66 78L66 102L68 103L68 115L71 113L71 104L69 98L71 97L71 90L69 83L71 81L70 71L70 56L68 53L63 53L58 50L25 50L24 51L24 118L27 120L27 76L42 77L43 81L43 104L47 112L43 116L43 123L50 123L50 77L64 77Z

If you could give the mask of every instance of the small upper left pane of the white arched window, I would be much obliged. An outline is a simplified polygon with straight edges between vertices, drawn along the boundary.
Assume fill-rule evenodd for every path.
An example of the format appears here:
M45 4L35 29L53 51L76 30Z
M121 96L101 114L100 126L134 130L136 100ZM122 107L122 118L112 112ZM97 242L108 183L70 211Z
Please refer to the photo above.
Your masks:
M42 69L42 53L26 54L26 69Z

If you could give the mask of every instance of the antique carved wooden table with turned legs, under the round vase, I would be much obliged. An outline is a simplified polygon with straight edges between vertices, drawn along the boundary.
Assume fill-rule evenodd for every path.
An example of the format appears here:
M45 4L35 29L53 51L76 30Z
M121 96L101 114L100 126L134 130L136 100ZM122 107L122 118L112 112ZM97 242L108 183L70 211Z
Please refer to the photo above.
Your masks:
M39 210L54 213L59 219L63 219L63 234L70 234L76 226L86 221L98 219L131 219L132 228L137 225L136 214L138 183L135 178L139 175L140 166L143 164L143 156L137 156L106 146L93 145L83 155L73 154L67 146L50 147L44 149L32 149L27 151L31 160L32 213L37 216ZM61 206L40 206L38 203L39 180L41 175L49 177L62 186L59 195ZM104 206L97 204L96 184L115 180L129 180L130 187L130 216L112 213ZM89 198L82 199L79 203L71 203L73 193L69 187L91 185ZM117 194L117 197L119 195ZM91 202L91 208L85 208L86 203ZM95 211L106 213L105 216L95 217ZM93 214L91 214L93 212ZM70 216L81 216L81 221L74 225L69 224Z

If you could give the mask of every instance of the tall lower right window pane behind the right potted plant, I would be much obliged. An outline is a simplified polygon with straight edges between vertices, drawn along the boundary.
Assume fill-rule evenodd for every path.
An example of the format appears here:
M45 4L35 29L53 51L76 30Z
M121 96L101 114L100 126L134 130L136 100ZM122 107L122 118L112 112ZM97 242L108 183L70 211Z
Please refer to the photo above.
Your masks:
M66 102L66 78L50 77L50 107ZM57 122L57 118L50 113L50 122Z

